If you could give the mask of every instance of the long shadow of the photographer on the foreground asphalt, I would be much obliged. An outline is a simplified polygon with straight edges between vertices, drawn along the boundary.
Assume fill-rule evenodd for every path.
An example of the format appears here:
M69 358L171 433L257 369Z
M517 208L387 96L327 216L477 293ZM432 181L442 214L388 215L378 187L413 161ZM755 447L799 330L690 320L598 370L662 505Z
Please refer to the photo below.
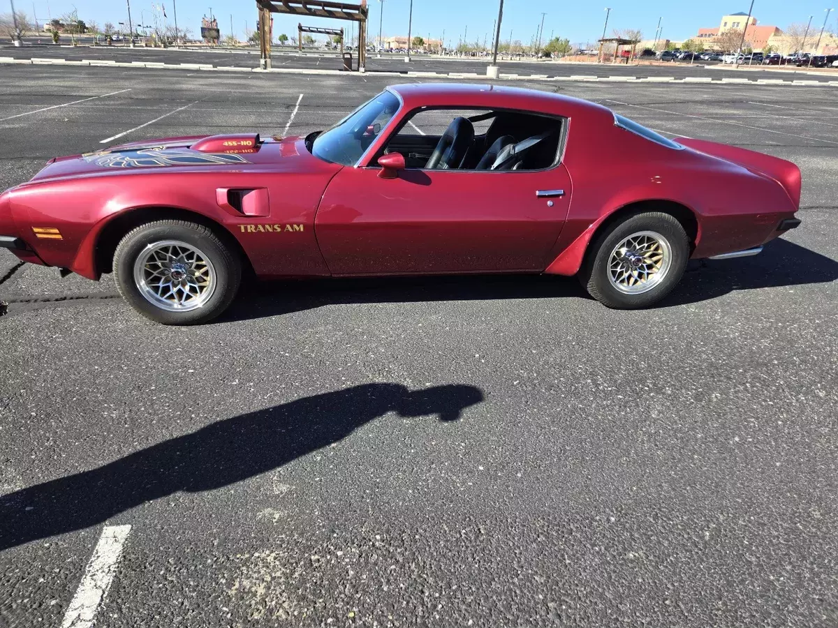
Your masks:
M212 491L287 465L394 412L450 422L484 400L447 384L366 383L216 421L104 466L0 496L0 551L90 528L176 492Z

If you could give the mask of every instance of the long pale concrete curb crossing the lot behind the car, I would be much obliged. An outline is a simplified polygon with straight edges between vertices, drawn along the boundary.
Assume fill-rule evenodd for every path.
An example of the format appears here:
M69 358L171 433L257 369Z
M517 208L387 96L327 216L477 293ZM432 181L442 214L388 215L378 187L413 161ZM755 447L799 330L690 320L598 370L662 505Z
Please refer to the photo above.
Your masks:
M165 64L159 61L131 61L119 62L111 60L97 60L97 59L82 59L80 61L68 61L67 59L45 59L43 57L33 57L32 59L15 59L13 57L0 57L0 64L23 64L23 65L83 65L92 68L141 68L141 69L192 69L201 71L216 71L216 72L256 72L261 74L289 74L289 75L326 75L326 76L392 76L392 77L410 77L410 78L444 78L444 79L469 79L479 80L486 79L484 75L477 72L346 72L340 69L306 69L306 68L237 68L232 65L212 65L212 64ZM740 79L740 78L722 78L713 79L709 76L688 76L683 79L677 79L675 76L646 76L638 78L637 76L597 76L597 75L570 75L570 76L553 76L547 75L516 75L516 74L502 74L499 76L500 80L540 80L546 82L603 82L603 83L690 83L690 84L708 84L713 85L789 85L801 87L835 87L838 86L838 81L818 81L818 80L782 80L782 79ZM487 79L488 80L488 79Z

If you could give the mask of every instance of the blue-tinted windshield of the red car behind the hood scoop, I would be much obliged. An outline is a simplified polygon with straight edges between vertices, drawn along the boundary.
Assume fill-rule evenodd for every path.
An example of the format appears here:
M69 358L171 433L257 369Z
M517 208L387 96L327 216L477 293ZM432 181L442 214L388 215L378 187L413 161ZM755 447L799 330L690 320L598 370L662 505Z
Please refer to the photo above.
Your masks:
M312 142L312 154L326 162L354 165L398 109L399 99L389 91L381 92L318 135Z

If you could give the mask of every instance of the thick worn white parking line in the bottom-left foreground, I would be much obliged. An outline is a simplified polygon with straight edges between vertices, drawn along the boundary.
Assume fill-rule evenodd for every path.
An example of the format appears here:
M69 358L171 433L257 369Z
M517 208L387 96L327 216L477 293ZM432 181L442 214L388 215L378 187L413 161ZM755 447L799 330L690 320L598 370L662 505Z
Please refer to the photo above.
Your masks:
M111 588L116 563L131 526L105 526L93 550L79 588L64 615L61 628L91 628L102 598Z

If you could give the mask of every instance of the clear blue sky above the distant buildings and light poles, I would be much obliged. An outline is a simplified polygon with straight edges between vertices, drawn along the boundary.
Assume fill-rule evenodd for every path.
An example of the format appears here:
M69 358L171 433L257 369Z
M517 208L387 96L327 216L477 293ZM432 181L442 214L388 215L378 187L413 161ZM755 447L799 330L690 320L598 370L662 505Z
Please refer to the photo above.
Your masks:
M824 9L830 5L823 2L830 0L756 0L753 14L760 24L772 24L785 28L791 22L806 22L810 15L815 18L812 28L820 29L825 16ZM838 0L833 0L838 5ZM18 11L31 14L32 0L15 0ZM160 4L158 0L155 3ZM209 13L212 7L219 20L222 35L230 31L230 15L233 28L240 38L244 38L245 28L254 28L256 23L256 3L252 0L176 0L178 25L192 28L199 33L200 18ZM139 21L141 11L147 23L151 20L151 0L131 0L132 18ZM163 2L169 20L173 18L172 0ZM8 11L8 0L0 0L0 12ZM58 17L61 13L78 8L82 19L95 19L98 23L127 22L125 0L35 0L34 11L39 21L51 13ZM370 39L373 33L378 36L381 3L369 0ZM835 6L833 5L833 6ZM407 16L410 0L385 0L383 13L383 31L385 35L404 35L407 33ZM608 19L608 33L612 28L640 28L644 38L654 39L658 18L663 17L663 33L668 39L686 39L696 34L699 27L716 26L725 13L742 11L747 13L747 0L704 0L701 3L639 3L636 0L603 0L600 3L572 3L567 0L506 0L504 3L504 21L501 39L520 39L529 43L541 23L541 12L546 13L544 20L544 39L551 33L567 37L573 43L595 41L603 33L604 8L612 8ZM838 6L835 6L838 8ZM492 25L498 13L497 0L413 0L413 33L433 39L442 36L445 29L446 44L456 46L467 32L468 41L473 42L484 37L491 39ZM830 14L828 28L835 28L835 13ZM296 33L299 18L290 15L277 15L274 18L275 36ZM308 19L303 23L326 28L349 28L349 23L328 19Z

